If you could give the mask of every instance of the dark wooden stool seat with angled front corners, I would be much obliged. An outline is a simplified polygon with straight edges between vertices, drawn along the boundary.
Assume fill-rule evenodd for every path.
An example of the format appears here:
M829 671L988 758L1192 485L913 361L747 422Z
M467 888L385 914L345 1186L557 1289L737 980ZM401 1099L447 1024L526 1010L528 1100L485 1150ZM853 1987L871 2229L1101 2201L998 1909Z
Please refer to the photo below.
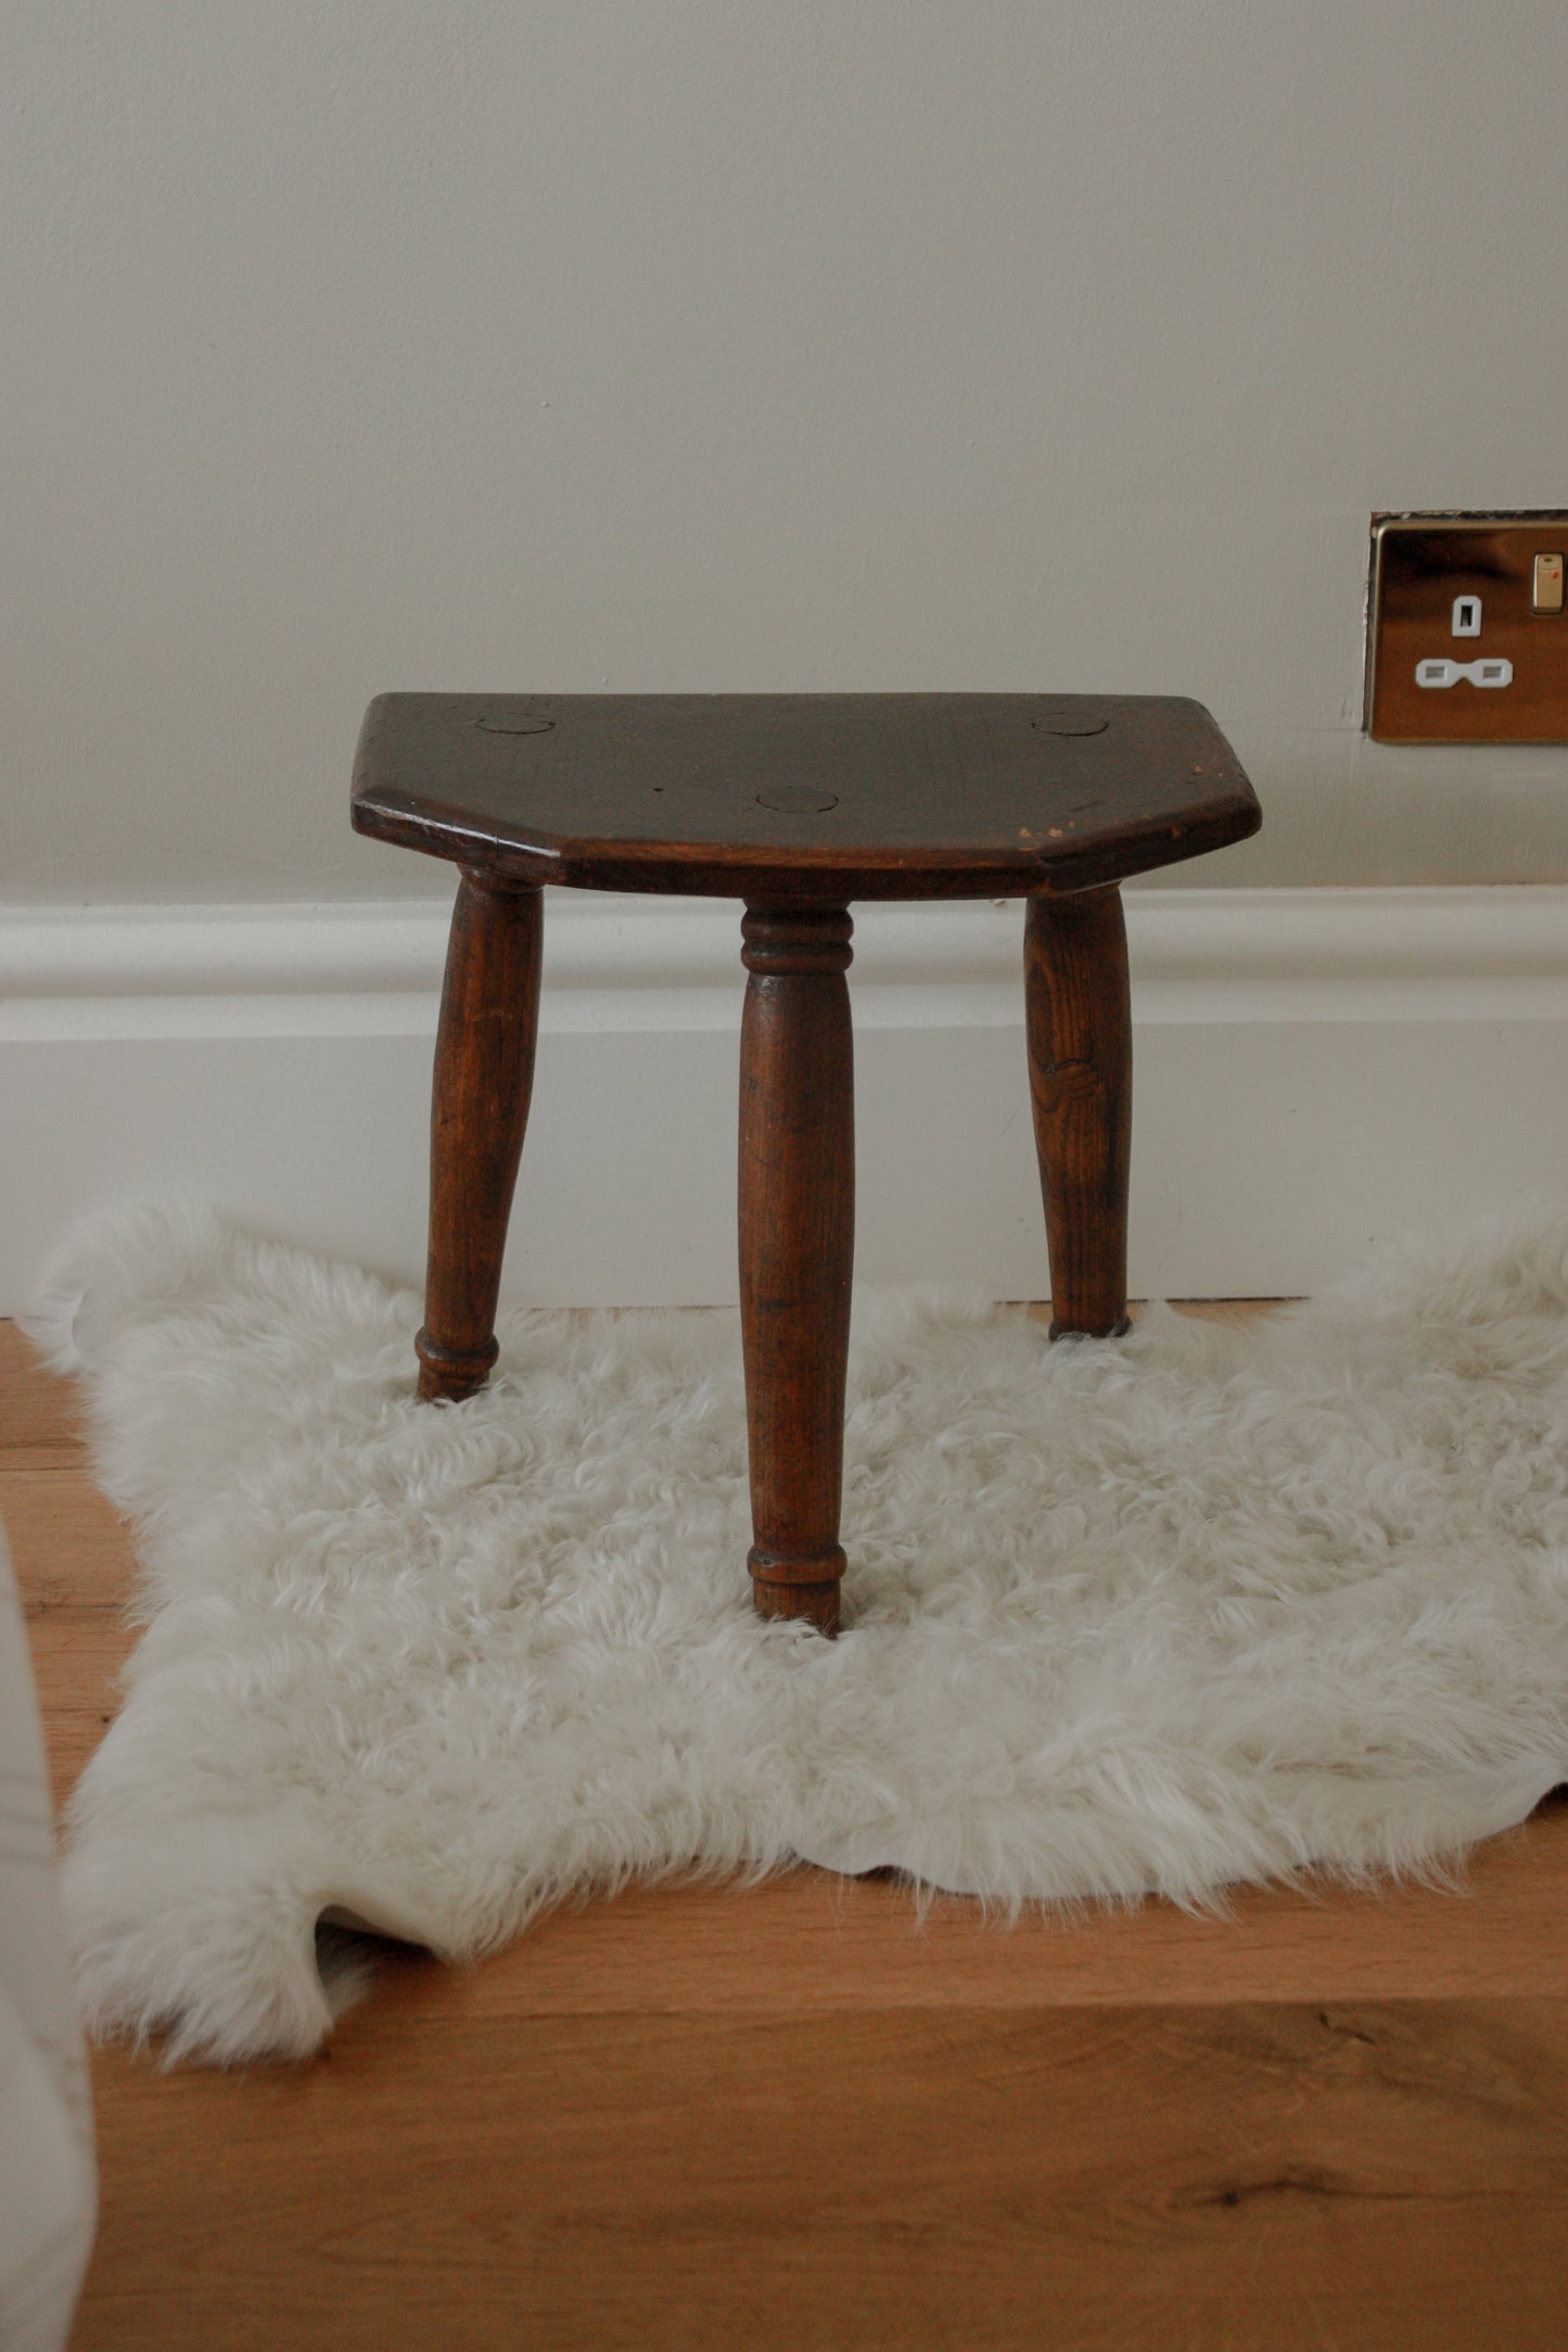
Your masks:
M1260 811L1166 694L383 694L353 821L517 882L844 903L1088 889Z

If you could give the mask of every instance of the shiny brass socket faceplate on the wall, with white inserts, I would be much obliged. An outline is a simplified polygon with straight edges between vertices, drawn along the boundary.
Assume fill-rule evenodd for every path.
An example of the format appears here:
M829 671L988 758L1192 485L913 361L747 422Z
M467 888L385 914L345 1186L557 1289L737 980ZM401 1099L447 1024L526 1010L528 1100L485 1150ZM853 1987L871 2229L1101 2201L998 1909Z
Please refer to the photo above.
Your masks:
M1380 743L1568 743L1568 614L1537 609L1537 557L1563 548L1561 510L1373 515L1366 731ZM1481 626L1455 644L1472 600ZM1483 661L1512 666L1507 684L1476 684ZM1448 684L1432 684L1439 668Z

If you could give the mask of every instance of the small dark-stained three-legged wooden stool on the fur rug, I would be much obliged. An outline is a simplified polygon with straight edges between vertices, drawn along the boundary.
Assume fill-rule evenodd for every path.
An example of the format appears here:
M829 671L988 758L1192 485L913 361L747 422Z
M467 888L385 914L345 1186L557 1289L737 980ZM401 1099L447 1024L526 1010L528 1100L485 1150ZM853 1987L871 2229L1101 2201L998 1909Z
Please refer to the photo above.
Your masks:
M1124 875L1260 826L1201 703L1150 694L383 694L360 833L454 858L421 1397L496 1359L541 884L743 898L741 1341L752 1592L837 1632L853 1254L851 898L1027 898L1051 1336L1126 1331Z

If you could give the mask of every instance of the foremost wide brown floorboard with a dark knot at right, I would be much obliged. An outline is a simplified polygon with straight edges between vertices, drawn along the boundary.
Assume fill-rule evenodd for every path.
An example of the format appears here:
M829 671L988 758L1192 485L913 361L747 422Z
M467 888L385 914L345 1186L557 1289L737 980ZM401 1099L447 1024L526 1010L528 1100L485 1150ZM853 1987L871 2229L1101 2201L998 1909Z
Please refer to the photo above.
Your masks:
M1537 2002L350 2018L115 2072L75 2345L1559 2352L1566 2114Z

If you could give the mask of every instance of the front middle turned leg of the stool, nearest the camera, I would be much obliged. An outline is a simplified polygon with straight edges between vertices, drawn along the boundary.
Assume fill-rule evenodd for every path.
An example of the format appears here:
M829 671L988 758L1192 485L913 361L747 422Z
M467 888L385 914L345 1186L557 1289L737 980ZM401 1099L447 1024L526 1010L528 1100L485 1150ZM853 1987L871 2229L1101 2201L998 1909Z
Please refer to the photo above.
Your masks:
M762 1616L839 1630L844 1371L856 1244L849 910L748 908L741 1343Z

